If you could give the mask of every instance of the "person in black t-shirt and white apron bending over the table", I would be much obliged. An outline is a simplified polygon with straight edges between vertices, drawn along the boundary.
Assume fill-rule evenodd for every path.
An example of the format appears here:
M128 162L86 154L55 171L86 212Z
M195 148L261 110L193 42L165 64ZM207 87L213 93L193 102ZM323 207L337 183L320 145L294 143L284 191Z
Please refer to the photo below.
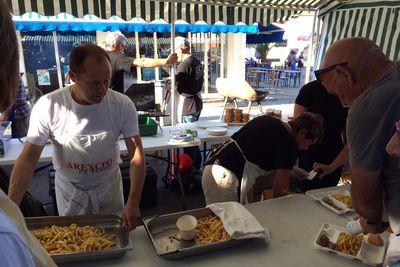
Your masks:
M292 171L298 151L318 143L323 131L322 117L309 112L288 123L266 115L249 121L206 162L202 186L207 205L247 203L249 192L266 189L253 188L254 184L261 185L258 180L270 175L274 175L273 196L287 195L289 177L298 177Z

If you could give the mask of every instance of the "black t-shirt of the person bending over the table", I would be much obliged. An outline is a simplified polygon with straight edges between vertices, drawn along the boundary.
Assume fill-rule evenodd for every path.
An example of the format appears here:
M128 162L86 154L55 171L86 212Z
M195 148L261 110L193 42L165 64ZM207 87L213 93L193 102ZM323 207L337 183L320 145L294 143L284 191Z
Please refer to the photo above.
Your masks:
M245 157L265 171L292 169L297 160L297 143L283 122L260 116L248 122L232 135ZM233 171L241 179L245 159L235 143L229 144L219 154L207 162Z

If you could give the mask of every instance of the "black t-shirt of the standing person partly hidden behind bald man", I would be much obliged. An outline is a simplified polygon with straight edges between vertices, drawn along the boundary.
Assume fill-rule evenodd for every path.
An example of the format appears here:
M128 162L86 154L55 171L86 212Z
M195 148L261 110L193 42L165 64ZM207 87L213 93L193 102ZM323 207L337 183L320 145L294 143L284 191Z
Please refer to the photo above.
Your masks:
M331 163L343 149L342 132L346 128L347 109L343 107L339 97L329 94L319 81L304 85L295 103L324 118L322 142L311 145L301 155L312 157L320 163Z

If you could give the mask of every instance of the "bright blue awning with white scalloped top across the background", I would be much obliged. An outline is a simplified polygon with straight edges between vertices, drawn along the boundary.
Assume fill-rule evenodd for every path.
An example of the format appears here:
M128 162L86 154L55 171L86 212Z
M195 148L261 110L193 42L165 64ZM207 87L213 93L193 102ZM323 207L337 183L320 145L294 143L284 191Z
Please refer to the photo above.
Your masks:
M14 16L15 28L22 32L28 31L121 31L121 32L170 32L171 26L165 20L157 19L150 23L141 18L132 18L125 21L117 16L109 19L101 19L95 15L85 15L77 18L68 13L60 13L55 16L43 16L36 12L29 12L22 16ZM218 21L209 25L204 21L189 24L184 20L175 23L175 31L179 33L257 33L259 24L246 25L237 23L236 25L226 25Z

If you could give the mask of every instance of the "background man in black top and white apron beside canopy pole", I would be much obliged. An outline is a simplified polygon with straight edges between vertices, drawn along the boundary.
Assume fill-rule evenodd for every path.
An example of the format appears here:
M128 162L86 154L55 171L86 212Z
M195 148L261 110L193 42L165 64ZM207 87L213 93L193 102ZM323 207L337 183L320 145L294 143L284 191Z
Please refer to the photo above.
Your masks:
M178 116L182 116L182 122L196 122L200 118L203 109L203 100L200 92L203 89L204 70L203 64L190 52L190 43L184 37L176 37L175 50L180 62L175 74L175 86L179 95ZM193 175L201 175L202 163L199 147L184 148L193 160Z

